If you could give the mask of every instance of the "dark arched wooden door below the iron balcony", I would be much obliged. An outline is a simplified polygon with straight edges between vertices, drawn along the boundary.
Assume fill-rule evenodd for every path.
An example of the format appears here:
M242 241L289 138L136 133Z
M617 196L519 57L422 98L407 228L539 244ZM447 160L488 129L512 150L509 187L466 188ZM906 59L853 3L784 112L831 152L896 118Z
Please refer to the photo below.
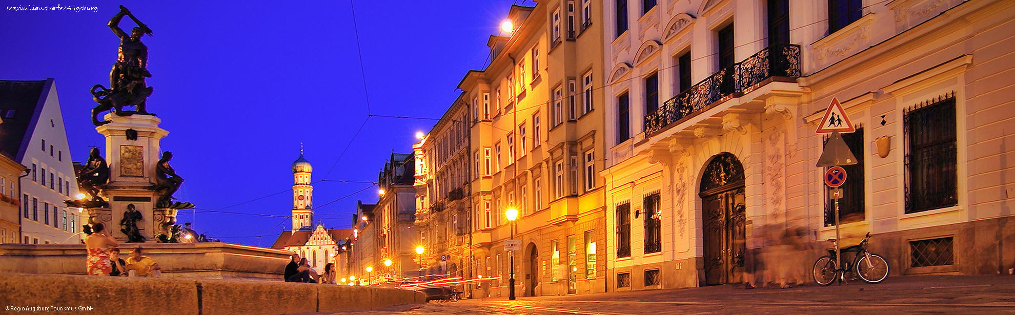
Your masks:
M705 285L743 282L746 237L744 166L731 153L713 157L701 176Z

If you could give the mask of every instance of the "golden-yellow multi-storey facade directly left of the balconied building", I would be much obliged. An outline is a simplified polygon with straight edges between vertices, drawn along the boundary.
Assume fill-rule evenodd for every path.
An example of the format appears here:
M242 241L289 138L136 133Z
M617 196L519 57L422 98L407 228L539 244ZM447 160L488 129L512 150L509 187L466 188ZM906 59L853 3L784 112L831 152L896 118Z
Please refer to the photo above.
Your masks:
M471 104L472 298L605 292L601 8L512 6L510 35L459 85ZM505 212L516 209L518 219ZM504 241L521 241L507 251Z

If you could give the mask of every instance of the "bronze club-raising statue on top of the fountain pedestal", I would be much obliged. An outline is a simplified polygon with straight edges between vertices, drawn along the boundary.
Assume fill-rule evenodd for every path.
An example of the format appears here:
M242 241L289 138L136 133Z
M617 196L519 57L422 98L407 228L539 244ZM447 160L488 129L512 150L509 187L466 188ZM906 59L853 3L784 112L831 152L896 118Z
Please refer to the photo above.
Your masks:
M120 20L129 16L137 27L128 35L120 28ZM152 35L151 29L142 23L124 6L110 20L110 28L120 37L120 53L117 62L110 71L110 88L101 84L91 87L92 99L98 103L91 110L91 122L95 126L110 124L109 121L98 121L97 115L114 109L117 115L153 114L145 109L145 101L151 95L152 88L146 86L144 78L151 77L148 72L148 48L141 43L144 34ZM135 110L124 110L124 106L135 106Z

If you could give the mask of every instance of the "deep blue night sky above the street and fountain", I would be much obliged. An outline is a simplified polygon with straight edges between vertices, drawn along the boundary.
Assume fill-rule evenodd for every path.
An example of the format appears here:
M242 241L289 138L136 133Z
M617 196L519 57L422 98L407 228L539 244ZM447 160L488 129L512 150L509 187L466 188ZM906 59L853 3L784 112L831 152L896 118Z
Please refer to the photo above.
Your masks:
M198 207L178 220L213 238L261 246L291 226L290 166L300 143L314 165L317 219L348 228L356 201L377 202L378 188L320 180L377 181L392 150L411 153L416 132L435 123L367 114L439 117L466 71L487 62L487 36L499 31L511 4L534 5L355 1L367 109L348 1L2 2L0 80L56 79L71 157L79 162L105 145L88 119L95 105L88 89L109 85L116 61L119 38L107 23L123 4L151 27L154 36L142 40L154 87L148 111L170 132L162 150L174 152L173 167L186 178L176 198ZM11 5L97 12L7 10ZM133 26L121 22L128 32Z

